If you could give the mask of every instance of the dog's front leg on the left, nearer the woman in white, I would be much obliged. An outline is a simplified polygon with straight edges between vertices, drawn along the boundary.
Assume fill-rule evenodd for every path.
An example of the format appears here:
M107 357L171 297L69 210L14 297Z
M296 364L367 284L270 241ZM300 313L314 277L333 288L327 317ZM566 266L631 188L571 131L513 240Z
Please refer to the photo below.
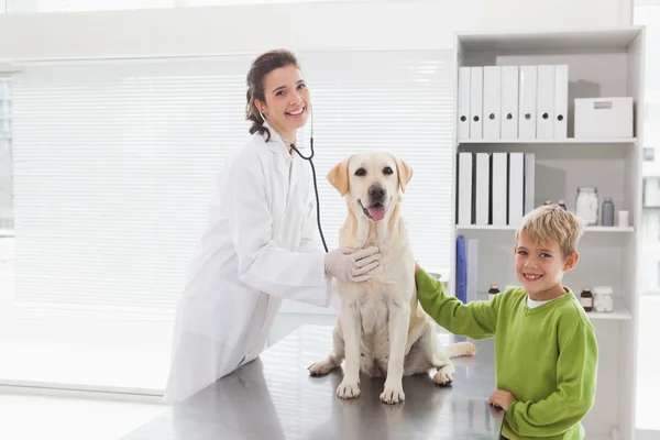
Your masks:
M360 341L362 340L360 315L353 304L342 307L341 327L344 339L345 371L343 381L337 388L337 395L341 398L353 398L360 395Z

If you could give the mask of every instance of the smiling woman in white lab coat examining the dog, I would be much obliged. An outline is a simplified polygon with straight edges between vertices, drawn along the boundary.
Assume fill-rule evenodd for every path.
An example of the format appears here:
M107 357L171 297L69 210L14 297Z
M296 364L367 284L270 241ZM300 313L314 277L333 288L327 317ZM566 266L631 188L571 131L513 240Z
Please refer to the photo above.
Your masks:
M332 277L369 279L381 257L375 246L326 253L315 240L309 166L292 148L311 102L292 53L253 62L246 107L252 138L219 174L177 307L169 404L256 359L283 299L328 307Z

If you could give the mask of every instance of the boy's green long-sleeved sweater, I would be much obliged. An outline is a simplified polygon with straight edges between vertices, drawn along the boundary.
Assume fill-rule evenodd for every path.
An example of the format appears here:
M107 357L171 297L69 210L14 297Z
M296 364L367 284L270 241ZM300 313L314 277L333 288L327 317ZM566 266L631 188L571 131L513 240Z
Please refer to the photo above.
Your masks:
M506 438L584 438L580 421L594 404L598 348L570 289L531 309L522 288L465 305L424 270L415 278L419 302L440 326L475 340L496 338L497 388L516 399L505 413Z

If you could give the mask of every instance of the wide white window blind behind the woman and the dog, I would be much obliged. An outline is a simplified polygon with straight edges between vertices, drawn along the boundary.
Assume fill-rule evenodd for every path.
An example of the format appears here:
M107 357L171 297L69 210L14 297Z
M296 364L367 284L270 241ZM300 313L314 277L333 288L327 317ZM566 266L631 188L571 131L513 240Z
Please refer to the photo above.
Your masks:
M337 246L345 205L326 174L350 153L386 150L415 172L403 212L416 257L447 273L451 52L299 57L312 96L329 248ZM252 58L23 66L13 80L15 288L23 314L172 318L217 173L249 139Z

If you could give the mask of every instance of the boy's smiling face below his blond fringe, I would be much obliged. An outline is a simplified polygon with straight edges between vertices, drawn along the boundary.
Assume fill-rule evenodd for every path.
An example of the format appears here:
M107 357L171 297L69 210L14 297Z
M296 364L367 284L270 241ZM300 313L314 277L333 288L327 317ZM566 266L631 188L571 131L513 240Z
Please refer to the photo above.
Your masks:
M576 252L566 257L559 243L539 243L522 231L515 253L516 276L531 299L548 300L564 294L561 280L578 263Z

